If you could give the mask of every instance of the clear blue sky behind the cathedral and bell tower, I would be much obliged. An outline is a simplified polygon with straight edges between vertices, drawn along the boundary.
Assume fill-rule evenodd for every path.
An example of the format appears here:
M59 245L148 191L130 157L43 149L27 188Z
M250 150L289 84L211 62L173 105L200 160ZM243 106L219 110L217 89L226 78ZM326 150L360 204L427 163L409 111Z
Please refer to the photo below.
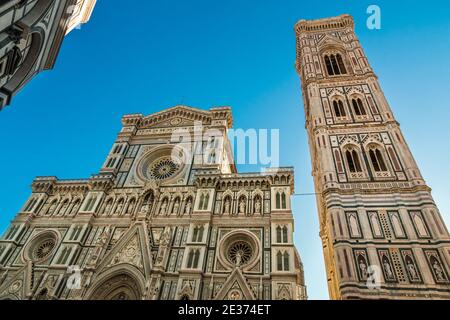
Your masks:
M366 28L378 4L382 29ZM65 40L55 69L0 113L0 232L35 176L96 173L127 113L177 104L233 107L236 128L280 129L281 165L313 192L300 81L299 19L352 14L356 32L447 225L450 225L448 1L98 1ZM240 166L241 172L257 167ZM309 296L328 298L314 197L294 198L296 245Z

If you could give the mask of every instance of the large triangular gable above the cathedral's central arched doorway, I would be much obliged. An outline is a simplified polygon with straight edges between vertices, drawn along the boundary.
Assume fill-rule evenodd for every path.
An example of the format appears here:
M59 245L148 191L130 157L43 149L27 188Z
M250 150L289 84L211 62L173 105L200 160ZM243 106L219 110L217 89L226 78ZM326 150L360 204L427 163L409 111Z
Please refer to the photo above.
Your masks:
M102 259L98 267L99 273L117 265L128 264L149 276L152 262L146 230L143 222L131 227Z

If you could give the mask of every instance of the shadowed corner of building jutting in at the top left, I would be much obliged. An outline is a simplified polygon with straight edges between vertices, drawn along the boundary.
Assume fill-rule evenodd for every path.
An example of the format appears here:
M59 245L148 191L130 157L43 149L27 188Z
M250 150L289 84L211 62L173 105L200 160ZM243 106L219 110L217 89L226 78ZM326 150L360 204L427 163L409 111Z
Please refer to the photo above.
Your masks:
M0 110L37 73L53 68L64 36L89 21L96 0L0 4Z

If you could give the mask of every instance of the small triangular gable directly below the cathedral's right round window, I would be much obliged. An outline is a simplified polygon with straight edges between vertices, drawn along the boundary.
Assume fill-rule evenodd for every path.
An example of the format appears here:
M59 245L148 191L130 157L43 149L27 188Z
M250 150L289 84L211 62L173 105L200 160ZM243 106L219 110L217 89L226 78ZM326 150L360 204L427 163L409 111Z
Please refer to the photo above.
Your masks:
M242 274L241 269L236 268L230 274L217 293L215 300L255 300L252 289Z

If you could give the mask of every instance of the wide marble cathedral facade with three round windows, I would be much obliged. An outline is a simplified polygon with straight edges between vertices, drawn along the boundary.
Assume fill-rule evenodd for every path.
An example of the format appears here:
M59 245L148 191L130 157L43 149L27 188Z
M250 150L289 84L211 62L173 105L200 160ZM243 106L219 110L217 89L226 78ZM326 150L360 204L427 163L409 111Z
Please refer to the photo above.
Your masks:
M292 168L239 174L228 107L126 115L98 174L38 177L0 299L306 299Z

